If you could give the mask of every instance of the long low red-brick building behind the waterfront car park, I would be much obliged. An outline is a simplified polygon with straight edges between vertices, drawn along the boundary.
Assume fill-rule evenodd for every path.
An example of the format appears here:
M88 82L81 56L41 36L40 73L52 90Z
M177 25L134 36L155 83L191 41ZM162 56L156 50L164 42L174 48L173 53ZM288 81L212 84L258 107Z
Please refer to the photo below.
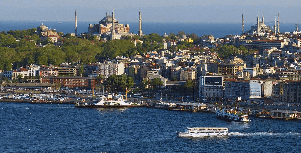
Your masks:
M95 89L95 86L97 84L97 80L95 77L80 77L80 76L74 76L74 77L66 77L66 76L54 76L54 75L48 75L45 77L42 77L41 83L50 83L50 84L56 84L60 83L62 84L62 87L68 87L68 88L91 88Z

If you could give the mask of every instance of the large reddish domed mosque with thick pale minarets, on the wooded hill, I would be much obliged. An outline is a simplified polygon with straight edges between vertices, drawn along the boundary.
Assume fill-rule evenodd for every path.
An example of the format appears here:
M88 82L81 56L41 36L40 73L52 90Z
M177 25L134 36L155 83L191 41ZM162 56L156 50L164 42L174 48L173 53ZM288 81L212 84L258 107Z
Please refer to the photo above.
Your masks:
M114 27L114 28L112 28ZM121 39L122 36L135 36L136 34L130 32L128 24L119 23L114 17L114 10L112 16L107 15L99 23L89 24L88 34L97 35L102 40ZM139 11L139 30L138 35L142 36L141 31L141 11Z

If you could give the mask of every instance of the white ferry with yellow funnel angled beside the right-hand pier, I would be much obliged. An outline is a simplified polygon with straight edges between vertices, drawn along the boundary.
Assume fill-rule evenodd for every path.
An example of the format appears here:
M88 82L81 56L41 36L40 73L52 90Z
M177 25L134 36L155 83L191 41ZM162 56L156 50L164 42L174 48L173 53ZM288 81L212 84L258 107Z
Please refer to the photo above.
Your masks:
M218 118L230 121L248 122L249 116L244 113L236 113L233 109L216 109L215 114Z

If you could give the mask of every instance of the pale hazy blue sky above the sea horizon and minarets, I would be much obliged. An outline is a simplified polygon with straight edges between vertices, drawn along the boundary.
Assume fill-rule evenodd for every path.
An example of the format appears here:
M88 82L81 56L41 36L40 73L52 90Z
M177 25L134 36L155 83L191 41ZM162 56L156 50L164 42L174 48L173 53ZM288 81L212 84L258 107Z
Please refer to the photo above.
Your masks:
M72 21L75 10L77 21L100 21L106 12L116 20L142 22L257 22L264 13L265 22L280 16L283 23L301 23L301 1L284 0L1 0L0 21Z

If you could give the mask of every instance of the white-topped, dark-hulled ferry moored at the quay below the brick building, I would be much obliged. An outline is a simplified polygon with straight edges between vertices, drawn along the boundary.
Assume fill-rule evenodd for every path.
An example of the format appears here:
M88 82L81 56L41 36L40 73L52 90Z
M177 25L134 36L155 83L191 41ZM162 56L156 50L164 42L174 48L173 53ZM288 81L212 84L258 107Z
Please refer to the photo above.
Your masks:
M101 95L97 100L93 100L92 103L79 103L76 102L74 105L80 108L124 108L124 107L144 107L146 103L126 103L123 101L123 96L118 95L114 98L105 97Z

